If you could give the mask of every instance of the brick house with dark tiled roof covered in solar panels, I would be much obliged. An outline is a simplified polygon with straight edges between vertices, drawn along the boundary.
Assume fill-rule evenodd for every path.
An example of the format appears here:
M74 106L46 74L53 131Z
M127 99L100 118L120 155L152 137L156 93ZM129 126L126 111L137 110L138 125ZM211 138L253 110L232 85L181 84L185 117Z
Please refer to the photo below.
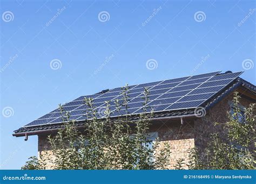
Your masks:
M204 148L209 135L218 129L215 122L225 123L227 111L232 110L234 91L241 96L241 107L256 101L256 87L241 79L242 72L230 71L212 72L207 74L186 76L177 79L163 80L129 87L129 113L131 119L136 121L142 112L142 93L144 88L150 89L149 106L154 109L151 119L150 132L154 135L152 140L159 137L160 141L171 144L171 165L176 164L179 158L188 161L188 148L197 146ZM64 104L64 109L70 111L71 119L76 120L76 126L83 127L85 116L83 111L84 97L94 98L98 109L102 108L104 101L113 102L120 98L120 88L103 90L100 93L81 96ZM111 118L114 118L114 106ZM121 111L122 112L122 111ZM122 112L124 114L124 111ZM58 109L36 119L35 121L15 130L13 136L38 136L38 154L42 155L50 150L50 144L46 139L48 135L56 133L63 128ZM217 130L221 132L221 129Z

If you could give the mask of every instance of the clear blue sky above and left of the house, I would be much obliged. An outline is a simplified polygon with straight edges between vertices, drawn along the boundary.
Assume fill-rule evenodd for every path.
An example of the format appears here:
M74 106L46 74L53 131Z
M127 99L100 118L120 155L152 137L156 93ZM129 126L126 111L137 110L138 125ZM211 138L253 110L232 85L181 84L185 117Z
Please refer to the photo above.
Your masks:
M4 0L0 7L0 169L37 155L37 136L24 141L14 130L79 96L217 70L245 70L241 77L255 84L253 1Z

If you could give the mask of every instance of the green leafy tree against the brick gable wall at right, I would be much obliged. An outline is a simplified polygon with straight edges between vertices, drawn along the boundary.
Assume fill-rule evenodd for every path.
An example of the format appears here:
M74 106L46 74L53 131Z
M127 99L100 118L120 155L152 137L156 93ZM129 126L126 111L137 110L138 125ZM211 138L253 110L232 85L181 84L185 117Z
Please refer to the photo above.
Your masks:
M255 169L255 104L241 109L239 100L238 93L234 93L233 110L227 112L224 125L226 137L212 133L203 153L197 148L188 150L189 169Z

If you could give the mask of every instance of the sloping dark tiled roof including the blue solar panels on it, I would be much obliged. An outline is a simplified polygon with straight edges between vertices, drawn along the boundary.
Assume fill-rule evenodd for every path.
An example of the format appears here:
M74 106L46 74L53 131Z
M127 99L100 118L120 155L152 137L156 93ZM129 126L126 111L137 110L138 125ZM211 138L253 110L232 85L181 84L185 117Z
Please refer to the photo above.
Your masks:
M129 114L130 119L136 121L138 114L143 108L144 87L150 90L150 101L148 103L150 111L154 109L153 118L177 118L191 117L197 113L195 110L200 108L210 109L215 103L218 103L227 94L230 94L239 86L244 86L254 95L256 87L239 77L242 72L212 72L207 74L180 77L177 79L163 80L157 82L137 84L129 86ZM100 93L80 96L75 100L63 105L66 111L70 111L70 118L76 120L76 126L83 126L86 120L84 110L84 98L94 98L95 106L98 109L98 117L104 118L104 101L110 101L112 110L111 118L117 117L117 112L113 101L119 99L121 88L103 90ZM119 112L125 115L125 110ZM39 132L48 132L63 128L59 109L55 109L48 114L36 119L35 121L15 130L14 136L24 136L25 134L37 135Z

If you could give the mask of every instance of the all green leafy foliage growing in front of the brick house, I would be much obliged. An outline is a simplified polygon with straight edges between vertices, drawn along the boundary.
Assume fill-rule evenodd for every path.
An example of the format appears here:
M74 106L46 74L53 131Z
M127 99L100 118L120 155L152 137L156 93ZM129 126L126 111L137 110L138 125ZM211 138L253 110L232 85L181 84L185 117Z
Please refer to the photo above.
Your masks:
M92 98L86 98L87 122L78 129L68 112L60 105L64 128L57 135L49 136L52 152L45 152L40 159L30 157L22 169L166 169L170 166L171 147L157 139L149 140L150 118L149 90L144 91L143 112L138 121L130 121L129 88L122 89L121 100L114 101L117 118L110 116L110 102L105 102L104 119ZM233 111L227 112L228 121L220 132L212 133L204 150L191 148L188 162L178 159L175 169L255 169L255 104L239 107L240 97L234 93ZM122 116L125 114L125 116ZM215 123L218 126L219 123ZM253 147L254 144L254 147Z

